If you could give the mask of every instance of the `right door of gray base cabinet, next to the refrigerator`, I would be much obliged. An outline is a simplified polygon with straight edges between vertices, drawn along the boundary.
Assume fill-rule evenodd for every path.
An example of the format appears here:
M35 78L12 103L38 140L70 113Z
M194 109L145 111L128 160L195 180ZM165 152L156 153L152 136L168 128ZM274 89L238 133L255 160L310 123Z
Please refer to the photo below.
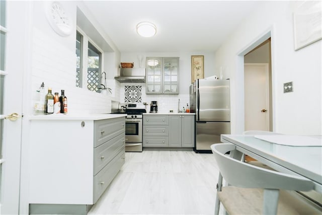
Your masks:
M195 116L182 116L182 147L195 147Z

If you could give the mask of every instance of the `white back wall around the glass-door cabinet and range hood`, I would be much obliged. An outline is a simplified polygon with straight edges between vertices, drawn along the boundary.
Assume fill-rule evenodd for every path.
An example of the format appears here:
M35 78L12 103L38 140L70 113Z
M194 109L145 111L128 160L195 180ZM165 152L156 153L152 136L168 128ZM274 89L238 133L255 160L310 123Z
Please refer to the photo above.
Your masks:
M204 55L204 77L213 76L215 73L214 53L209 52L147 52L134 53L122 52L121 62L134 62L134 67L139 67L139 57L142 56L141 68L145 68L146 57L179 57L179 95L146 95L145 84L120 84L120 101L124 102L124 86L142 86L142 102L150 104L151 101L158 102L158 112L168 113L169 110L178 110L178 99L180 108L189 104L189 87L191 85L191 55ZM218 74L219 76L219 74Z

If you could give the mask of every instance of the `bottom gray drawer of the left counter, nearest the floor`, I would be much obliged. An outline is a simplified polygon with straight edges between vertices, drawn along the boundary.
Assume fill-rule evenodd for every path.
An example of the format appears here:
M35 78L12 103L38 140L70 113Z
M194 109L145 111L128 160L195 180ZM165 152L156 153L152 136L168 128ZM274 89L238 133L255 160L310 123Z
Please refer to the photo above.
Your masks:
M96 176L94 176L94 203L96 203L96 201L101 197L124 163L125 147L122 149L122 152L120 152Z

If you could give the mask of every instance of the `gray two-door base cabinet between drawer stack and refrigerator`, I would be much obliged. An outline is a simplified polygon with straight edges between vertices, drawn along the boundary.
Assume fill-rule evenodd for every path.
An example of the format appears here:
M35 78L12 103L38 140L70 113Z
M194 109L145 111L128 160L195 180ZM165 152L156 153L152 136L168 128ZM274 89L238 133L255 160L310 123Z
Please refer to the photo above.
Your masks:
M169 147L194 147L195 115L169 116Z

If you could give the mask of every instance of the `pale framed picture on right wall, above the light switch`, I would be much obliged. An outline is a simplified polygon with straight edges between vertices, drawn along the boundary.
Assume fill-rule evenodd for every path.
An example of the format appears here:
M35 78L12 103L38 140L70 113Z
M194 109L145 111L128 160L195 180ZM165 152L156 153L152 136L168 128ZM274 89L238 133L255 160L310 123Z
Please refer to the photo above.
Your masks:
M306 1L293 14L294 50L297 51L322 39L320 1Z

